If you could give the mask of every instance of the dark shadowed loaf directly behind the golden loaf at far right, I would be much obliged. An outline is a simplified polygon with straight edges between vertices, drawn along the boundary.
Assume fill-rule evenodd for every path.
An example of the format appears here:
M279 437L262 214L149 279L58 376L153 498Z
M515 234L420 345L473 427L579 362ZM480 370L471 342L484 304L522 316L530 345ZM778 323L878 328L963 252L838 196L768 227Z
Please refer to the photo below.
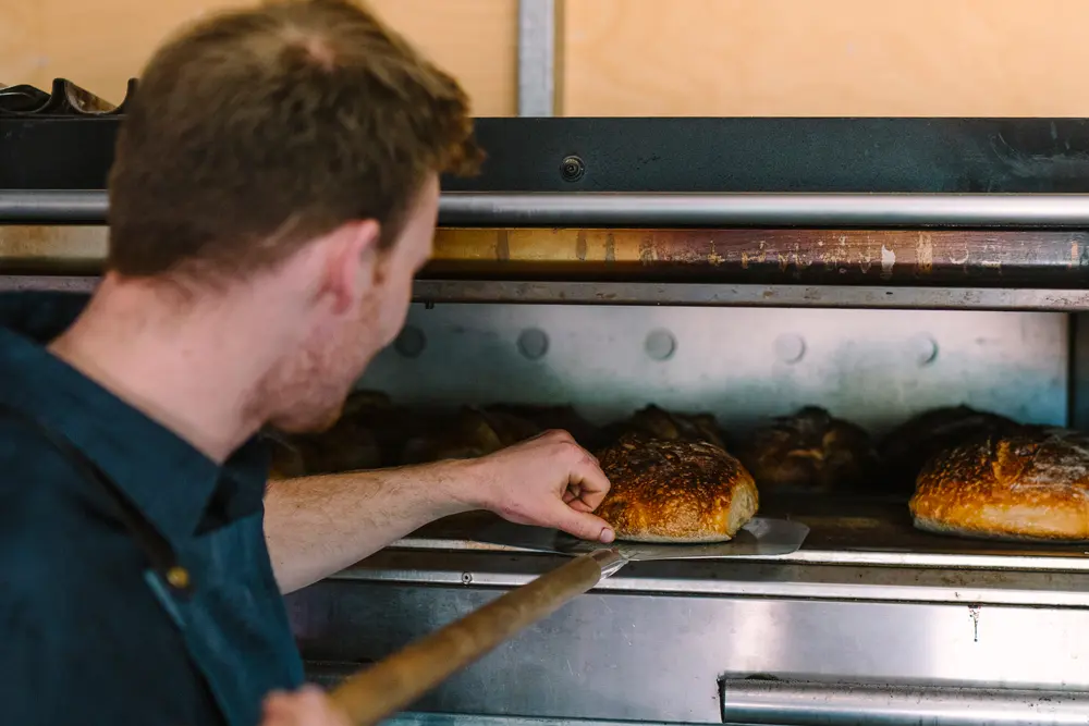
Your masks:
M937 454L971 439L1013 432L1020 427L1004 416L968 406L934 408L890 431L878 445L882 478L911 489L922 467Z

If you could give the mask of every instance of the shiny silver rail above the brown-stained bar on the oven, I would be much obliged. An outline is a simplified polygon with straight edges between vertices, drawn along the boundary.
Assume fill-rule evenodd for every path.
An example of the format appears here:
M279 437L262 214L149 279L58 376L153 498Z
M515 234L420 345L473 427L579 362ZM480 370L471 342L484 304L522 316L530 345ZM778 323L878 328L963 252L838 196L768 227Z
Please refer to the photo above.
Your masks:
M105 223L106 190L0 189L0 223ZM512 226L1089 226L1089 194L448 192L439 223Z

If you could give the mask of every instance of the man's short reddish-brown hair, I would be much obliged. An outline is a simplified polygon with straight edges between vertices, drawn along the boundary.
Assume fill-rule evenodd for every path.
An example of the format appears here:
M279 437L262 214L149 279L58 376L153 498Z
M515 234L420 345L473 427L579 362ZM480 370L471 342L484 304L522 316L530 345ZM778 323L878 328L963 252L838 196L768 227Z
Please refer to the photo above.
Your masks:
M457 83L348 0L221 14L148 63L110 173L108 267L240 276L362 219L399 235L480 152Z

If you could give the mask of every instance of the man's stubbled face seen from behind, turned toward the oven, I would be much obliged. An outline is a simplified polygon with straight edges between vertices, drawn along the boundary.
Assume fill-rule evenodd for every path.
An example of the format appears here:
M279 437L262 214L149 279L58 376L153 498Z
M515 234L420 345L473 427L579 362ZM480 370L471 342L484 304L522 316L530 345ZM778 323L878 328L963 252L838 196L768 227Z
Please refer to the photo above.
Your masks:
M431 256L439 210L432 175L408 212L401 236L359 263L355 309L315 327L264 394L276 401L269 423L282 431L320 431L340 417L344 399L370 359L393 342L412 302L413 278Z

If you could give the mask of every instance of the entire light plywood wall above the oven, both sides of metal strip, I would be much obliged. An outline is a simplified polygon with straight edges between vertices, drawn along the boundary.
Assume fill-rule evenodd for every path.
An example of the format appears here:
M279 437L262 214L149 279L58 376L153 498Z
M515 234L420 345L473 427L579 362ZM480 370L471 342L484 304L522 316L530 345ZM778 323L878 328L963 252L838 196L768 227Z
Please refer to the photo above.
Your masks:
M0 0L0 83L110 99L180 23L236 0ZM516 108L517 0L371 0ZM558 0L566 115L1089 116L1089 0Z

